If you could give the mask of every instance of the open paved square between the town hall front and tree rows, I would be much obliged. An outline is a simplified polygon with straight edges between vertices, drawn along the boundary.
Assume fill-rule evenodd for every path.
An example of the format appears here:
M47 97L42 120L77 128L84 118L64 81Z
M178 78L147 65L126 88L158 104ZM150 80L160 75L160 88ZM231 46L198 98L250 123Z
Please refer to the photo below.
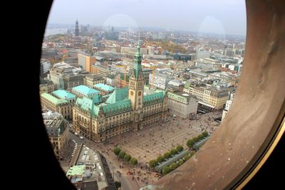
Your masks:
M187 140L201 134L203 130L209 134L214 132L219 126L219 122L214 121L214 118L220 117L221 114L209 112L197 115L198 120L183 120L181 117L168 115L166 122L155 122L144 126L142 130L120 134L121 137L110 138L110 142L113 142L113 147L114 144L120 144L121 149L137 158L140 164L147 164L151 159L156 159L159 154L170 151L178 144L187 148Z

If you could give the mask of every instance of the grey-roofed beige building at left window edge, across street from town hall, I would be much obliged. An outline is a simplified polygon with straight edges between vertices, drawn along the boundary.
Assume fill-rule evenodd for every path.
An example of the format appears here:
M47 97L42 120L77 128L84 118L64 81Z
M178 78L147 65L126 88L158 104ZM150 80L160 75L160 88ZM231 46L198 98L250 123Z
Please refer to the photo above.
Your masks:
M68 142L68 122L61 114L52 112L51 110L42 110L42 115L53 152L60 158Z

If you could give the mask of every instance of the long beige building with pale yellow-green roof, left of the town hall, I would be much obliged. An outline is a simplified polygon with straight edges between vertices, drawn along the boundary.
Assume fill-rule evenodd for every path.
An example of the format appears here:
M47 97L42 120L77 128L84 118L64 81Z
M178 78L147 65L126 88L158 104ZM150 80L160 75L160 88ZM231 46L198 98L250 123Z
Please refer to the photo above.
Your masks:
M59 99L48 93L41 94L41 107L60 113L66 120L71 120L72 118L71 102Z

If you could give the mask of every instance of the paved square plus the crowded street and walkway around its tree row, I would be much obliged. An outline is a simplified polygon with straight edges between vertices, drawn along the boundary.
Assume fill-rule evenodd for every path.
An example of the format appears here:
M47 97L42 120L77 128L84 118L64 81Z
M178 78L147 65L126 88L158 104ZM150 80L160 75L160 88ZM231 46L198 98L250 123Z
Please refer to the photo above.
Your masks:
M147 184L153 184L159 180L150 172L148 162L156 159L159 154L170 151L177 144L183 144L187 148L186 142L192 137L196 137L206 130L212 134L219 122L214 118L221 117L222 112L208 112L197 114L197 120L189 118L183 120L181 117L168 115L166 121L159 121L150 125L145 125L142 130L136 132L125 132L124 134L111 137L107 142L95 143L88 139L79 139L74 134L69 134L70 139L75 139L78 144L84 142L93 149L97 149L107 159L110 171L114 173L115 181L121 181L123 189L140 189ZM120 148L127 154L138 159L138 164L131 167L122 159L118 159L113 153L115 144L120 144ZM73 149L73 142L69 144L68 154ZM69 160L61 161L63 169L68 169ZM120 167L123 166L123 167ZM135 171L133 175L127 175L127 171ZM118 174L120 171L121 175Z

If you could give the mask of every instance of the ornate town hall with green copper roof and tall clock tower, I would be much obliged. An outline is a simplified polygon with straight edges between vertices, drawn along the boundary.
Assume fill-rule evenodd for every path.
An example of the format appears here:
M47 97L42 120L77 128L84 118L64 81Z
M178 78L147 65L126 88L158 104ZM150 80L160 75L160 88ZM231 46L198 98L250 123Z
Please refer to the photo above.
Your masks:
M165 120L167 93L159 91L144 95L141 61L138 46L128 88L116 89L105 102L100 94L76 100L73 125L77 132L100 142L129 130L140 130L149 123Z

